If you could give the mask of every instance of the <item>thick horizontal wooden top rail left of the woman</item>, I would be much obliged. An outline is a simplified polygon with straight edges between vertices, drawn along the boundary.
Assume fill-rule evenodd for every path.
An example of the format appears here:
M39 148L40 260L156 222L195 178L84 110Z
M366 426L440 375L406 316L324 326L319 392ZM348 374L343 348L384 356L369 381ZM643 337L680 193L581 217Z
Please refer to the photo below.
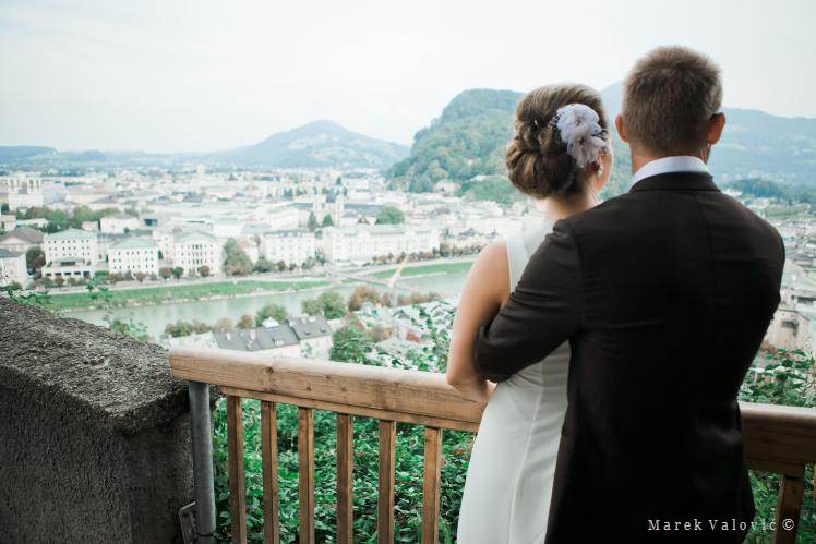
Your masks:
M421 371L208 348L173 349L170 371L226 395L463 431L476 431L484 409Z

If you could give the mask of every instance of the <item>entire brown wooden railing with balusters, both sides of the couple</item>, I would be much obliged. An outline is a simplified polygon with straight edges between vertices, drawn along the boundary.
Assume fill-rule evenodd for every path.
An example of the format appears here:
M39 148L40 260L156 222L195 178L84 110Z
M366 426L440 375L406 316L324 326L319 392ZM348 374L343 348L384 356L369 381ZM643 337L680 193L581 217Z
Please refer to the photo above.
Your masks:
M352 418L380 420L377 541L394 542L396 423L424 425L422 542L436 543L444 428L476 432L483 406L444 376L332 361L271 358L204 348L170 352L172 375L220 386L227 397L232 542L247 541L241 399L261 401L264 541L277 543L276 404L298 407L300 542L314 542L314 415L337 413L337 541L352 542ZM742 403L748 467L780 474L776 544L792 543L804 495L805 466L816 462L816 410ZM793 520L788 530L782 520Z

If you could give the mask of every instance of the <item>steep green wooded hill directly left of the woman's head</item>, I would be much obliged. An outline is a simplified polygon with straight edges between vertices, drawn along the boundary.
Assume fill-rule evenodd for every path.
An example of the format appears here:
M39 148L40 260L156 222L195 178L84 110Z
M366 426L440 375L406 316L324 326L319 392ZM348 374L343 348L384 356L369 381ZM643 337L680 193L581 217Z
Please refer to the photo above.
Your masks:
M504 148L520 97L515 90L488 88L459 93L413 136L410 156L388 174L409 180L410 190L430 191L443 179L504 173Z

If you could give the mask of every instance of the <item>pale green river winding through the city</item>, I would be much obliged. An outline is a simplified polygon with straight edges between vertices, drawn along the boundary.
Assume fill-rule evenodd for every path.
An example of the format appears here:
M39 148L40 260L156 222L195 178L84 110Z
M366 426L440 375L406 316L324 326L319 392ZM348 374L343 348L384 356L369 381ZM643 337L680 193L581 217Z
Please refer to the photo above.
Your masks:
M466 271L453 271L433 274L420 277L406 277L399 285L416 288L418 291L434 291L447 295L458 293L465 282ZM383 288L375 287L382 291ZM348 298L355 290L353 286L334 288ZM309 290L298 292L284 292L271 294L256 294L249 297L235 297L218 300L202 300L191 302L168 302L160 305L152 306L128 306L115 307L113 317L119 319L133 319L142 323L147 327L147 334L158 339L170 323L179 319L200 322L212 325L221 317L229 317L233 322L238 321L243 314L255 315L255 313L269 302L281 304L291 315L300 315L300 304L307 299L314 299L324 290ZM407 291L399 291L405 293ZM75 312L65 312L67 317L75 317L95 325L105 326L105 311L103 310L80 310Z

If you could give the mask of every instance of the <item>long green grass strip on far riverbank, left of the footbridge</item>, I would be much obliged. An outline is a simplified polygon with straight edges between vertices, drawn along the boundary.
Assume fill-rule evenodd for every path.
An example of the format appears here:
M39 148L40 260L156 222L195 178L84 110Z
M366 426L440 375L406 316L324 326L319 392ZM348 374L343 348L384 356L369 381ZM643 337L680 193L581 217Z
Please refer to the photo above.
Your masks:
M111 290L111 303L115 306L127 304L161 304L173 300L199 300L208 297L230 297L245 294L255 291L286 291L290 289L309 289L314 287L326 287L328 281L262 281L262 280L238 280L221 281L217 283L191 283L181 286L160 286L144 289ZM95 304L89 293L51 293L51 304L55 310L82 309Z

